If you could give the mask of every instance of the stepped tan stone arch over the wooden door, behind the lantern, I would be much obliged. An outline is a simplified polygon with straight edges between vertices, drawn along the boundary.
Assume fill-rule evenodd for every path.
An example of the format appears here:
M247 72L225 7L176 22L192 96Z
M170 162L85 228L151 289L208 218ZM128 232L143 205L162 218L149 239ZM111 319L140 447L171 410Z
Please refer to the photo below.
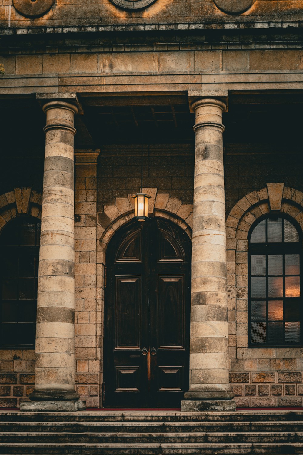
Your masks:
M192 204L183 204L177 197L169 193L158 193L157 188L143 188L149 194L149 214L170 219L178 224L191 238L193 222ZM98 213L97 236L98 246L104 252L116 230L134 217L134 194L127 197L116 197L115 204L105 205L103 212Z

